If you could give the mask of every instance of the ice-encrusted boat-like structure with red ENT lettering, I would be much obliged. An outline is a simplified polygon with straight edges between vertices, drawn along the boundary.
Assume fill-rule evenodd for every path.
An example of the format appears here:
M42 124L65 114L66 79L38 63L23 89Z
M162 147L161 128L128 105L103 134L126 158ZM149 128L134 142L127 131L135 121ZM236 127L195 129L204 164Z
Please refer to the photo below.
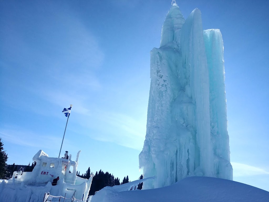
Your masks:
M76 161L72 161L72 155L65 158L49 157L44 151L39 150L33 157L36 162L32 172L14 172L9 180L0 179L0 202L36 202L42 201L45 192L53 196L74 196L81 199L84 196L86 201L93 176L90 179L83 179L76 176L80 151L77 153ZM72 170L73 167L73 172ZM70 171L70 172L69 172ZM56 186L51 182L59 176Z

